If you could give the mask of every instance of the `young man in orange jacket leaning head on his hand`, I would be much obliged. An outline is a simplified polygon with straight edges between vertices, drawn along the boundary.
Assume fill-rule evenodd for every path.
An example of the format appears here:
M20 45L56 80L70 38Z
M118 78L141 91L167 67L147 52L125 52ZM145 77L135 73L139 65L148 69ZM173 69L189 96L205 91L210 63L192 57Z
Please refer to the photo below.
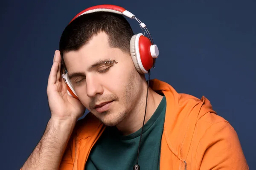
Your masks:
M48 80L52 116L21 169L249 169L236 131L208 99L158 79L148 88L133 35L111 12L82 14L65 28ZM77 122L85 108L90 113Z

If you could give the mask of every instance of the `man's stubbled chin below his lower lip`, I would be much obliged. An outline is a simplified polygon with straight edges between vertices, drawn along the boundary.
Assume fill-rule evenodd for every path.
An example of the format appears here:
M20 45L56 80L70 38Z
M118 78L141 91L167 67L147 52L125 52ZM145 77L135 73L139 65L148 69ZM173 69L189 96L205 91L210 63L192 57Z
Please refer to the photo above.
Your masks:
M111 111L105 111L100 113L99 120L106 126L116 126L121 123L127 117L126 113L119 112L113 113Z

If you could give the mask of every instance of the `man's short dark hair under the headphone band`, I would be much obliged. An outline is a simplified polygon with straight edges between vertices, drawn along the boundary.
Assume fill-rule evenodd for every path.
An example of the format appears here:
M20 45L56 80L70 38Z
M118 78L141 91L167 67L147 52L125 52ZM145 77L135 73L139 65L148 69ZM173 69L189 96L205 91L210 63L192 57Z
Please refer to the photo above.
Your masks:
M101 31L108 35L108 42L112 48L130 52L130 40L134 33L125 17L99 11L81 15L64 29L59 42L62 61L64 52L79 50L93 35Z

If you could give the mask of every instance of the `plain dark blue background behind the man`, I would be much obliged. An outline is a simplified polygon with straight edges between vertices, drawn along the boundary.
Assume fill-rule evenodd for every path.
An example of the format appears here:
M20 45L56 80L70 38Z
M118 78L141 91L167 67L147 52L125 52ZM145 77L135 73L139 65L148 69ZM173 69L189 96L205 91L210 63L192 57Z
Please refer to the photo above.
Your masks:
M19 169L44 133L47 80L65 26L84 8L123 6L160 49L152 78L206 96L235 128L250 169L256 157L256 1L37 0L0 5L1 169ZM135 33L140 27L130 20Z

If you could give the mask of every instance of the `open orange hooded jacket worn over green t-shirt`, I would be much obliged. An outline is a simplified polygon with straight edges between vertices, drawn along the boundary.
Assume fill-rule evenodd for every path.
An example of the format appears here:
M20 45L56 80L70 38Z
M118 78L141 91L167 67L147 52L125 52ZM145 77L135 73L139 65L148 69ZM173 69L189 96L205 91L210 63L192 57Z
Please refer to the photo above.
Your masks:
M150 87L164 94L167 103L160 170L249 169L236 131L212 110L208 99L178 94L157 79L150 80ZM90 150L104 129L91 113L79 120L59 169L84 170Z

